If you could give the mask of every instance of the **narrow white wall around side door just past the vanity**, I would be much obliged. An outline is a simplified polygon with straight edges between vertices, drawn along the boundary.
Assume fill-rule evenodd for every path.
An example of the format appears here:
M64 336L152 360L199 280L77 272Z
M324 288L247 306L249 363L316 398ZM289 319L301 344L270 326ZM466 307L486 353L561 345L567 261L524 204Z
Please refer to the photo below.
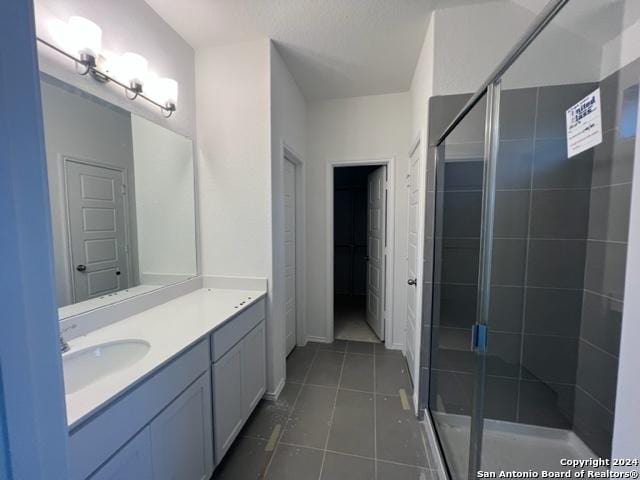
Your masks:
M287 69L276 46L270 48L271 70L271 205L272 235L271 252L271 295L274 335L271 355L273 356L273 384L280 386L285 373L285 283L284 283L284 186L283 186L283 142L302 162L306 160L306 102L293 76ZM304 168L298 166L297 168ZM298 192L297 201L304 205L304 191ZM304 242L304 238L297 240ZM298 245L299 247L300 245ZM298 273L304 265L298 263ZM304 278L298 278L298 281ZM298 303L304 305L304 291L297 292ZM304 319L301 323L304 324Z

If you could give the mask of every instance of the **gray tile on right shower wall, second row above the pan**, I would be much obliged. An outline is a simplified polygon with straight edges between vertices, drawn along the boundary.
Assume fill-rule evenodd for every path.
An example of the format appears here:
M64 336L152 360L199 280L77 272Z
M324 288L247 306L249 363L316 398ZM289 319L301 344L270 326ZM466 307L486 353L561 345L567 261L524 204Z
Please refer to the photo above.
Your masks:
M580 340L578 377L576 384L613 411L618 383L618 358L609 355L584 340Z

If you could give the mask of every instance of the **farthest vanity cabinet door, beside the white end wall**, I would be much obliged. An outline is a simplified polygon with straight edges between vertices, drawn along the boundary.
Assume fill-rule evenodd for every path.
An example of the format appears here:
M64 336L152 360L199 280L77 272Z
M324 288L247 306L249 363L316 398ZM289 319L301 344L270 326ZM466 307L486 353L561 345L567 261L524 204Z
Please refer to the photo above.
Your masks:
M265 328L261 322L242 340L242 404L249 418L266 389Z

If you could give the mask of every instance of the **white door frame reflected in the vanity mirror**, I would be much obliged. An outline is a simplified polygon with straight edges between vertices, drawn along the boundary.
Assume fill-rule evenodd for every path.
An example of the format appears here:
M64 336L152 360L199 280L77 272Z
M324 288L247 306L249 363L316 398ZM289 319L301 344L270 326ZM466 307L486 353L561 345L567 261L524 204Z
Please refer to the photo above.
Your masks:
M131 185L129 183L129 172L127 171L127 168L125 167L118 167L115 165L109 165L108 163L104 163L104 162L99 162L96 160L89 160L86 158L80 158L80 157L76 157L74 155L61 155L62 158L62 173L63 173L63 179L64 179L64 211L66 214L66 225L65 225L65 231L67 233L67 254L69 255L69 261L70 264L67 265L67 267L69 268L69 285L71 286L71 299L73 300L73 303L77 302L76 299L76 281L75 281L75 277L73 275L73 243L71 241L71 214L69 211L69 185L67 182L67 166L69 165L69 163L79 163L81 165L88 165L90 167L96 167L96 168L104 168L106 170L113 170L115 172L119 172L120 175L122 175L122 182L124 185L126 185L126 191L127 194L123 195L123 210L124 210L124 242L125 242L125 247L126 247L126 262L127 262L127 286L123 287L123 289L126 288L130 288L132 283L133 283L133 268L132 268L132 262L131 262L131 251L132 251L132 245L131 245L131 216L130 216L130 208L131 205L129 204L129 197L130 197L130 192L131 192ZM137 251L137 249L136 249Z

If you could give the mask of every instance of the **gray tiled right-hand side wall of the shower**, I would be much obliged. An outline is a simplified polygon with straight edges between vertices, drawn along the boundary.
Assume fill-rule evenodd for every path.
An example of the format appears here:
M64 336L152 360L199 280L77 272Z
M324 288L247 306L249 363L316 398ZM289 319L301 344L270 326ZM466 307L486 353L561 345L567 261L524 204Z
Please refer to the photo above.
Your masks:
M594 149L574 429L610 455L636 143L635 61L601 82L603 142Z

